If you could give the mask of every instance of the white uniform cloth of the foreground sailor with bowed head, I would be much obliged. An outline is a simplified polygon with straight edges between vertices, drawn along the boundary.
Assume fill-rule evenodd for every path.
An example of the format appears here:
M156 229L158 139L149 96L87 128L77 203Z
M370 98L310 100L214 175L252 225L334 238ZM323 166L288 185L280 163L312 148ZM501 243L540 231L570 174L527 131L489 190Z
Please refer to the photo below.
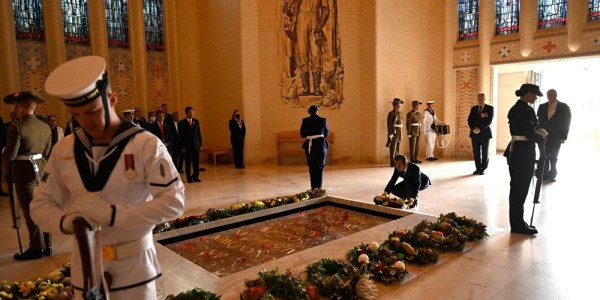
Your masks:
M75 162L74 141L72 134L55 145L31 203L31 215L45 232L61 234L61 217L73 201L88 193ZM133 155L132 179L125 176L127 154ZM177 169L163 143L145 131L129 140L100 193L116 206L114 225L100 231L103 245L118 245L151 235L156 224L181 216L184 209L184 186ZM72 282L83 287L74 236L73 241ZM152 245L137 256L104 261L104 271L113 278L111 290L152 281L160 276L156 249Z

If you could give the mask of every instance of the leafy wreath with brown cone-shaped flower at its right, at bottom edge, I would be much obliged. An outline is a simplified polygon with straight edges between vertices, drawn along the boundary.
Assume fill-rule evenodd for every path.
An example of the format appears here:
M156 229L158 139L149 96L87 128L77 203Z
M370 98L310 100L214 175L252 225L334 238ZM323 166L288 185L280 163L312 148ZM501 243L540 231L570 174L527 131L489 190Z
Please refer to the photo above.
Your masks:
M378 293L367 264L357 269L340 259L323 258L306 267L306 279L329 299L371 300Z

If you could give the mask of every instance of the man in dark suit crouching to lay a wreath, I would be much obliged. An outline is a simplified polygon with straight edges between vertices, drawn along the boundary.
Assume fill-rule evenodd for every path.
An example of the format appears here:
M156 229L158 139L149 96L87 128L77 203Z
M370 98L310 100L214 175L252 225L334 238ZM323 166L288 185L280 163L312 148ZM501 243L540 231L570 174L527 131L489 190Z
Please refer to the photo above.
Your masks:
M394 162L396 163L394 174L385 186L384 192L387 194L392 193L402 199L413 198L414 201L409 207L413 208L418 204L419 191L429 187L431 181L427 175L421 172L417 164L409 163L406 156L398 154L394 157ZM404 180L396 184L399 177L404 178Z

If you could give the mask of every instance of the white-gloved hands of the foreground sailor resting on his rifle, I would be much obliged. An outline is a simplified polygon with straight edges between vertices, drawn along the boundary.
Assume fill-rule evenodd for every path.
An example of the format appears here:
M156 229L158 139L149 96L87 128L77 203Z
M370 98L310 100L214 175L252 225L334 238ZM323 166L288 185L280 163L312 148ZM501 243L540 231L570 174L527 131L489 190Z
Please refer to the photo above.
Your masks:
M114 225L116 207L102 199L98 193L93 193L75 200L67 209L67 215L70 214L91 219L100 227L110 227Z

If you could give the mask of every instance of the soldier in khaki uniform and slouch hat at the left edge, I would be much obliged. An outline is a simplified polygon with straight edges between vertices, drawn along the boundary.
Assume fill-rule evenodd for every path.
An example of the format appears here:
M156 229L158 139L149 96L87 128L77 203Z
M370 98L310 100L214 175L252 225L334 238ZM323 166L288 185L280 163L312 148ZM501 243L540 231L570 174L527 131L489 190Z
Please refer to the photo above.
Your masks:
M42 234L29 212L33 190L37 186L52 146L50 127L33 114L37 104L42 102L29 92L4 97L4 103L14 104L20 121L8 126L6 148L2 158L4 163L11 166L16 198L23 209L29 231L29 249L23 253L16 253L16 260L38 259L52 253L50 235Z

